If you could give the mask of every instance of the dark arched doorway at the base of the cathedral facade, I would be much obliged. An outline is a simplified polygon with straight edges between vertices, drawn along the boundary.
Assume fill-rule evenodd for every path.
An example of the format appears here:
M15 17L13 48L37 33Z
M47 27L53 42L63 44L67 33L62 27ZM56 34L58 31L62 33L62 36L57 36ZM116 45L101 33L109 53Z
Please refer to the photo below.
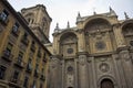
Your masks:
M114 88L114 85L113 85L112 80L103 79L101 81L101 88Z

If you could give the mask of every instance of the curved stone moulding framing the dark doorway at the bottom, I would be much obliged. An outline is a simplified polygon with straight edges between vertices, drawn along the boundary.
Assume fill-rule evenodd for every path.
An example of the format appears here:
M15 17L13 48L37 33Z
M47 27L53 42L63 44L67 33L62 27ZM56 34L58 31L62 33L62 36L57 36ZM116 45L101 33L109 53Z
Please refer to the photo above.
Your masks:
M102 82L104 79L111 80L111 81L113 82L113 85L114 85L114 88L115 88L116 81L115 81L115 79L114 79L112 76L109 76L109 75L102 76L102 77L98 80L98 88L101 88L101 82Z

